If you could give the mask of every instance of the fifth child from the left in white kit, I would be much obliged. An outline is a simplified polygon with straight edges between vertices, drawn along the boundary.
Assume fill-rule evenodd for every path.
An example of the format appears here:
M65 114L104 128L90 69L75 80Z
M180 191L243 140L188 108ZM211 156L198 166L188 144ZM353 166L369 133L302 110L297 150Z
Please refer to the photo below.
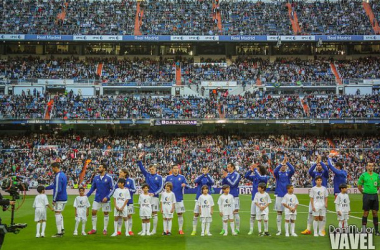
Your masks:
M165 192L161 194L161 213L164 218L164 232L162 235L172 235L172 219L176 203L175 195L172 192L173 184L165 184Z

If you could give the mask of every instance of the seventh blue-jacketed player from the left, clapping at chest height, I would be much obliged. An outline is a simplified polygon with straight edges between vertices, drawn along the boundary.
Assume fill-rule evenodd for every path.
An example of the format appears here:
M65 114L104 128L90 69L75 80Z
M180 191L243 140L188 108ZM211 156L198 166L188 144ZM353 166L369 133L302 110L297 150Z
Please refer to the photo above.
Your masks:
M239 209L240 209L240 201L239 201L239 182L241 179L241 176L238 172L236 172L235 164L229 163L227 165L227 172L223 173L223 179L222 179L222 185L228 185L230 186L230 194L234 197L234 217L235 217L235 232L239 233L240 231L240 216L239 216Z

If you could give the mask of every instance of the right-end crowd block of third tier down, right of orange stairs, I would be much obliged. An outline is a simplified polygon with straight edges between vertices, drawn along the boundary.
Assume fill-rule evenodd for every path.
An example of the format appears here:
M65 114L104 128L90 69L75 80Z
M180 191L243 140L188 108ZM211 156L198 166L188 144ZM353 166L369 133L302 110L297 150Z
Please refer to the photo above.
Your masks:
M305 97L310 117L315 118L371 118L380 117L379 95L314 96Z

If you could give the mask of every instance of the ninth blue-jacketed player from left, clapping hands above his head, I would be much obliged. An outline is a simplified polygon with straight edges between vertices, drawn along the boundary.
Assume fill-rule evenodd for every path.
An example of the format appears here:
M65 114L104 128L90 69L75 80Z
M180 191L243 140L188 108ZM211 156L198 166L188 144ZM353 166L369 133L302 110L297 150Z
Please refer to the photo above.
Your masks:
M287 185L290 185L290 179L294 175L294 167L288 162L288 157L285 155L284 160L280 165L278 165L273 171L274 177L276 178L276 211L277 211L277 234L281 235L281 223L282 223L282 212L284 211L284 206L282 205L282 199L288 193Z

